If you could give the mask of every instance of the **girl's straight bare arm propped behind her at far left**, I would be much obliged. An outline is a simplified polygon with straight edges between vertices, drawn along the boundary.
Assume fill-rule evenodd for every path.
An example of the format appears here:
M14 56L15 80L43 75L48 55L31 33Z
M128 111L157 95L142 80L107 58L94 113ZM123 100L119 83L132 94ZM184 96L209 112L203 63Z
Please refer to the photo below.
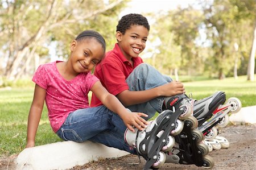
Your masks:
M42 115L46 90L35 85L34 98L30 107L27 123L27 145L26 148L35 146L35 136Z

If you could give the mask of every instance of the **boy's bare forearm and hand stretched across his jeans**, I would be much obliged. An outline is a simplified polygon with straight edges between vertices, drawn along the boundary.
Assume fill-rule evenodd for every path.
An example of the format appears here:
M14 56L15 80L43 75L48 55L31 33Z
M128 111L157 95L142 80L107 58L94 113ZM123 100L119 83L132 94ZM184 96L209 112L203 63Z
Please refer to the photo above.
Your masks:
M149 90L123 90L121 93L117 94L117 98L123 103L123 105L130 106L138 103L144 103L160 96L169 97L176 94L183 94L184 90L184 86L181 82L172 81Z

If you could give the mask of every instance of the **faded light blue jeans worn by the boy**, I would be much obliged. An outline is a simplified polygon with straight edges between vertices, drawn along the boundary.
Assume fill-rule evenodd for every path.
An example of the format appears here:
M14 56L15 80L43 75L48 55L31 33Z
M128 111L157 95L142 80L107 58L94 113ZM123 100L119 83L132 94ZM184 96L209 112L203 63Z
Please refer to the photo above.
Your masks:
M171 82L172 79L158 72L154 67L146 63L138 65L133 72L126 78L130 91L142 91ZM162 112L165 97L151 99L148 102L137 105L127 106L131 111L146 113L147 119L155 115L155 112Z

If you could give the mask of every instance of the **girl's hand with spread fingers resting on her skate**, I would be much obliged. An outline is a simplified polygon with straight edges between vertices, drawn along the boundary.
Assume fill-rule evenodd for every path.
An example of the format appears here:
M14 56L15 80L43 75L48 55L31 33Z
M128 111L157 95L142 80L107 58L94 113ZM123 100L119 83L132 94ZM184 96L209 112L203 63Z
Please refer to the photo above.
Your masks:
M148 117L148 115L144 113L129 112L125 114L125 116L122 119L123 123L125 123L125 126L129 128L130 131L134 132L135 130L133 126L137 127L139 130L143 130L149 124L142 117Z

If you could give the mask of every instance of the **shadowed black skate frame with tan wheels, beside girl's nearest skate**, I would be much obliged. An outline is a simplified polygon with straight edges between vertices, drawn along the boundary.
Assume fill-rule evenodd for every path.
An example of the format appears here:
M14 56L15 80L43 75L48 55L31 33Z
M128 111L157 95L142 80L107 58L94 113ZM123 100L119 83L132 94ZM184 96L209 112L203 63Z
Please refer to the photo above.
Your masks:
M166 163L195 164L197 167L212 168L214 161L208 156L209 149L204 144L204 135L193 126L193 121L185 119L183 130L174 137L174 145L166 152Z

